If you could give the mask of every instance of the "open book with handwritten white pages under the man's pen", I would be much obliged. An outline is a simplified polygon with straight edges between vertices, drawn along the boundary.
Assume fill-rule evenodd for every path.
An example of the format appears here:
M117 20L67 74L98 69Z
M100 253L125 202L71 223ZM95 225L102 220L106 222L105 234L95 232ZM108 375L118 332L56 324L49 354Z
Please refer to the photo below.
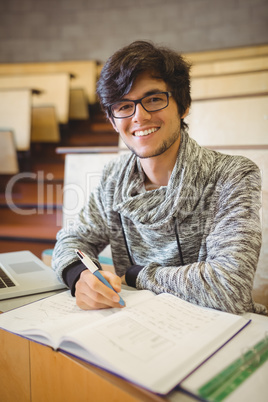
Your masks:
M0 315L0 328L164 395L250 320L169 294L122 289L124 309L84 311L69 291Z

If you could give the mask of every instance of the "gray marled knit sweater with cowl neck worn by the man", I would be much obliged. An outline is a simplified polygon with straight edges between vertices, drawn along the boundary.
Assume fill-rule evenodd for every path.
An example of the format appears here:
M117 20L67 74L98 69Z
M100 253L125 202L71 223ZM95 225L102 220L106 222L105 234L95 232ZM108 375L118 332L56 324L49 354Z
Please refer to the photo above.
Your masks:
M138 289L233 313L265 313L251 296L261 247L257 166L182 133L168 185L145 191L144 178L133 154L106 166L75 225L58 233L53 268L59 277L77 260L74 249L97 261L110 244L119 276L140 266Z

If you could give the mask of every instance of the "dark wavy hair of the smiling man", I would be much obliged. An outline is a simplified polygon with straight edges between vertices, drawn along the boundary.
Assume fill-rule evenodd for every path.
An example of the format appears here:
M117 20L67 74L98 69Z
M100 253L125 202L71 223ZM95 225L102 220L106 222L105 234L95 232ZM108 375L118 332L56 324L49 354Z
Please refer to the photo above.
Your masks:
M105 63L97 83L102 109L112 117L110 105L126 95L137 78L145 71L166 82L182 116L191 105L191 65L181 55L147 41L135 41L115 52ZM182 128L187 124L182 119Z

